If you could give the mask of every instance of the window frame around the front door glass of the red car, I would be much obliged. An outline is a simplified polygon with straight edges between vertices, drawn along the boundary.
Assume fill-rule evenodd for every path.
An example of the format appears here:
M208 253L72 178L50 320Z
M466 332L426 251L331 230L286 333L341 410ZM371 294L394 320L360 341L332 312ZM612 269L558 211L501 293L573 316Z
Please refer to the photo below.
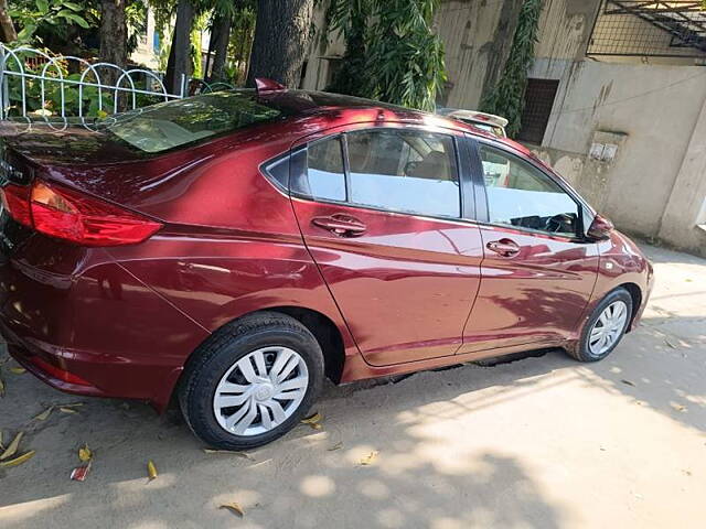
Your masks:
M492 141L486 138L473 137L471 134L467 134L467 141L469 145L471 145L471 155L472 155L471 163L473 166L472 179L473 179L473 187L475 190L475 197L477 197L475 210L477 210L479 224L498 227L498 228L513 229L513 230L517 230L528 235L549 237L549 238L565 240L565 241L571 241L571 242L578 242L578 244L590 242L590 240L586 236L586 229L587 229L586 213L591 214L592 210L590 206L588 206L588 204L580 197L580 195L578 195L571 187L567 186L567 184L563 180L557 179L554 174L546 171L544 168L537 164L534 160L523 155L520 151L516 151L515 149L512 149L512 147L509 147L504 143ZM574 203L577 206L578 222L576 226L576 234L574 235L556 234L552 231L543 231L538 229L525 228L523 226L512 226L510 224L491 222L490 206L488 203L486 184L485 184L485 180L483 179L483 162L482 162L481 152L480 152L480 149L482 145L488 145L493 149L496 149L503 154L506 154L507 158L511 160L514 158L516 160L520 160L521 162L524 162L525 164L536 170L539 174L549 179L564 193L566 193L568 197L571 198L571 201L574 201Z

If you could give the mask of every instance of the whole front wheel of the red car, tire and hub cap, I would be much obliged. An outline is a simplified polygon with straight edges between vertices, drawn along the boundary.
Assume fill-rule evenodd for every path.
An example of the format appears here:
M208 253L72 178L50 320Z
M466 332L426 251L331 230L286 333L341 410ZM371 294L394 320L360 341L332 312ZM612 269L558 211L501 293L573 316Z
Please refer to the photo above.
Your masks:
M632 298L625 289L610 292L584 325L578 343L567 353L579 361L597 361L612 353L632 315Z

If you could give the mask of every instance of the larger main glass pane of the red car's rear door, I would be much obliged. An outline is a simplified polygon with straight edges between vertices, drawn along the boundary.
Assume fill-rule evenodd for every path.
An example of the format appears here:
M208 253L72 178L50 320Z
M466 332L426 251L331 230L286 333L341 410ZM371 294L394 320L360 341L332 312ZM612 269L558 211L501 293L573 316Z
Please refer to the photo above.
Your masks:
M347 201L393 212L460 217L453 138L377 129L347 132Z

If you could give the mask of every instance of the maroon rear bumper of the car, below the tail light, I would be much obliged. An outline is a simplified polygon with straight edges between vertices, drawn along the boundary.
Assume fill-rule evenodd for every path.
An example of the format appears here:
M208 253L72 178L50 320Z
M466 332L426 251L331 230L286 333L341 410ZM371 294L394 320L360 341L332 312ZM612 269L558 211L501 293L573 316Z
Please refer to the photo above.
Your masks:
M208 333L100 250L82 250L73 267L30 253L0 262L0 333L12 357L58 390L163 410Z

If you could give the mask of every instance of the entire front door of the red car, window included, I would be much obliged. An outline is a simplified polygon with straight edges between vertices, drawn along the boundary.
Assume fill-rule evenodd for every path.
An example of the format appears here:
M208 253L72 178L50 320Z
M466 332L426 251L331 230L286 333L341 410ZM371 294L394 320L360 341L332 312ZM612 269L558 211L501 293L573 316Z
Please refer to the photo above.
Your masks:
M580 235L581 201L521 153L477 148L484 258L459 352L569 339L598 272L598 247Z

